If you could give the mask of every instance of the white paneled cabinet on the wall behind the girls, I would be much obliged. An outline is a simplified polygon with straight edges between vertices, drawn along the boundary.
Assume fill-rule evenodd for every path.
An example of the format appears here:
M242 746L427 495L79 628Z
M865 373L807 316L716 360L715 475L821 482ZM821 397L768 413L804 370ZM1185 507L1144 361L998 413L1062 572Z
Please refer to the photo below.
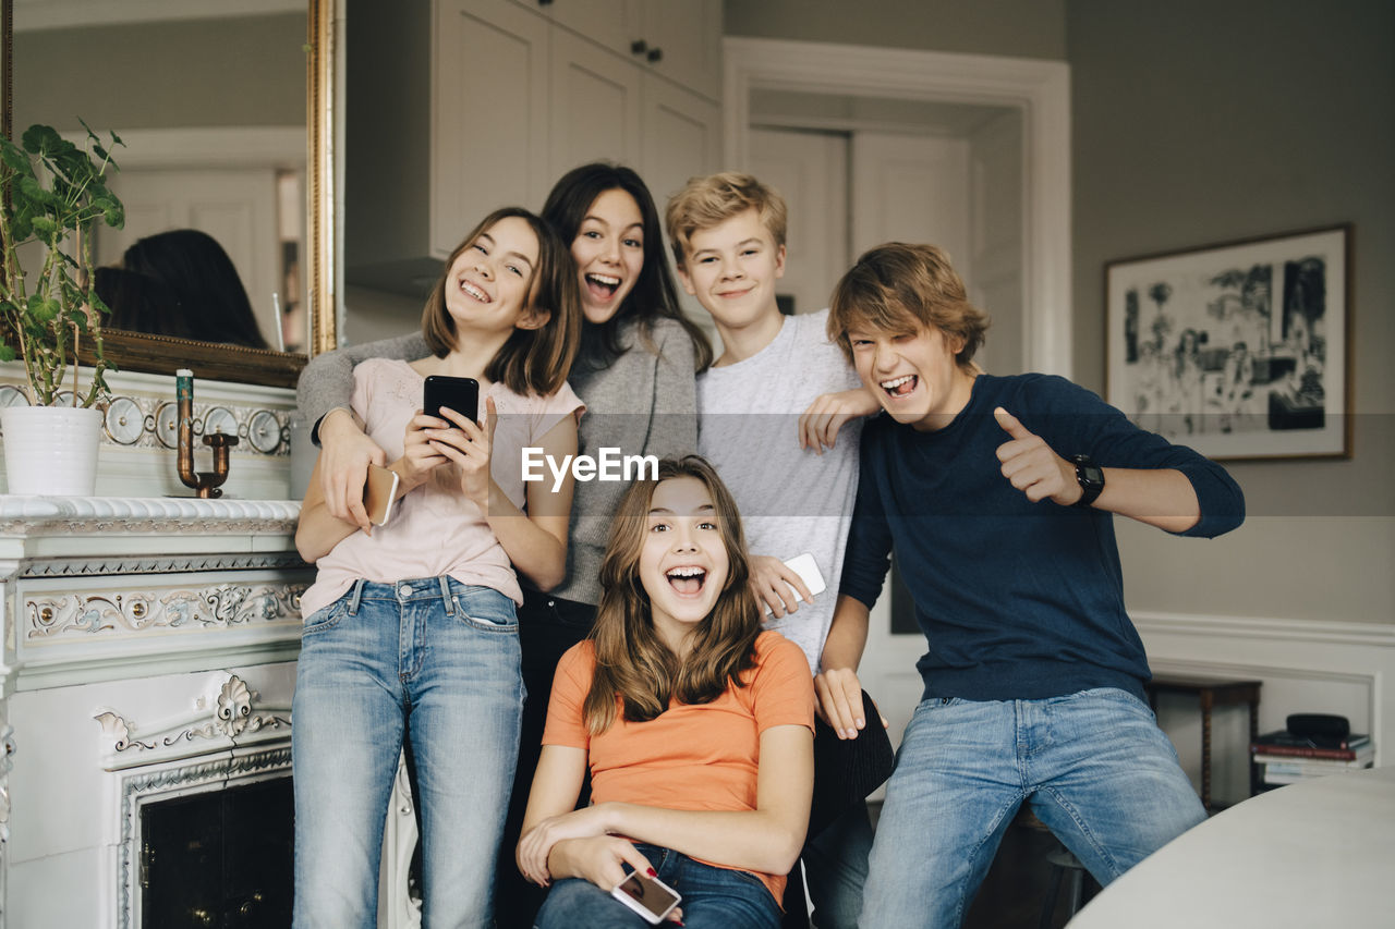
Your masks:
M660 212L720 167L720 0L384 6L349 0L350 285L421 294L488 211L541 209L590 160L638 170Z

